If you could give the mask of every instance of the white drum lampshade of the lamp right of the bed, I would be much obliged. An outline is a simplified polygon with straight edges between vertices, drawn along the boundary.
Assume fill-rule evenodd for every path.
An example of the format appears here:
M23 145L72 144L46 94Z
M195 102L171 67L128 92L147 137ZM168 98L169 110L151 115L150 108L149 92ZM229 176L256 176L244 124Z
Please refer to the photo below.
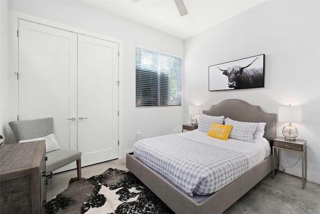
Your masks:
M302 122L302 108L300 106L279 106L279 122L300 123Z

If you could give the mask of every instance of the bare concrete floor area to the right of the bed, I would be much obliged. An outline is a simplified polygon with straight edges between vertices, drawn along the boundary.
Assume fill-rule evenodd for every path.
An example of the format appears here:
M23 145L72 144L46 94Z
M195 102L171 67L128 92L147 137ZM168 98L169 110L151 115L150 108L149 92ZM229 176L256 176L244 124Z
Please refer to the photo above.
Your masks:
M307 181L302 189L300 178L270 173L224 213L320 213L320 185Z

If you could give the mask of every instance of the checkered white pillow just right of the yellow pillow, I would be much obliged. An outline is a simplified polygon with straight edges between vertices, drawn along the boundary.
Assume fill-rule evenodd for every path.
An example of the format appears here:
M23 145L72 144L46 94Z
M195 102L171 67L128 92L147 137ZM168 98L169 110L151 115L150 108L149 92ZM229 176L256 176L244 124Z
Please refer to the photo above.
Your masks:
M254 134L258 123L240 122L227 117L224 120L224 124L232 125L229 138L254 143Z

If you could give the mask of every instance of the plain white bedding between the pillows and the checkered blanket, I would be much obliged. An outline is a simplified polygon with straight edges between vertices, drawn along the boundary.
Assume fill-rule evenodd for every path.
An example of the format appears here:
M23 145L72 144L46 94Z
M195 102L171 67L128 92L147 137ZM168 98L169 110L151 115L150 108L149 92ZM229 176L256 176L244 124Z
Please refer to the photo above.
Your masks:
M198 131L197 129L193 131L178 133L176 135L180 135L185 138L189 138L191 140L199 141L202 143L215 145L222 148L234 149L246 153L250 158L249 169L267 158L271 153L269 142L265 138L261 139L260 143L250 143L231 138L225 141L207 136L206 132Z

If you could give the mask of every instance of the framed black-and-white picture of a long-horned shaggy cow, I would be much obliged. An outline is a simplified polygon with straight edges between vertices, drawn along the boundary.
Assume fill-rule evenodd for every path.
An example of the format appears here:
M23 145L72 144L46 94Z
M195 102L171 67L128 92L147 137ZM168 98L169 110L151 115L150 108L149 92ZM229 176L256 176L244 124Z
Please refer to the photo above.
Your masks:
M264 54L209 66L209 91L263 87Z

